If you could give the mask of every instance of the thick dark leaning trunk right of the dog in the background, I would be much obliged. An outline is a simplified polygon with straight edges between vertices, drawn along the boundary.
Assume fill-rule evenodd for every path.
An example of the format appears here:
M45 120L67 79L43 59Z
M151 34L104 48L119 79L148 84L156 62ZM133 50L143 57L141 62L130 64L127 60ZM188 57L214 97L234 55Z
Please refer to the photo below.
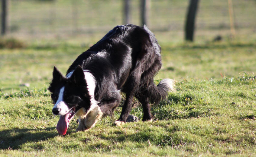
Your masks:
M190 0L188 7L185 25L185 39L188 41L193 41L198 3L199 0Z

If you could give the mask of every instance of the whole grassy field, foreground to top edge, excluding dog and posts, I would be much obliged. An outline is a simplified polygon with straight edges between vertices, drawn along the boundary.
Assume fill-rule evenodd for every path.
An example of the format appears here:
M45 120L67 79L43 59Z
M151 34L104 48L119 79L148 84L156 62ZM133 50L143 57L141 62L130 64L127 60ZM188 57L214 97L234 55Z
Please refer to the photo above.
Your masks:
M7 37L24 47L0 49L0 157L256 156L254 0L233 0L233 37L227 1L202 0L194 43L183 42L187 0L151 1L149 28L163 60L155 83L175 79L177 91L151 106L153 122L112 126L120 104L86 132L75 133L71 121L65 136L55 128L59 117L47 90L53 66L66 73L80 53L122 24L122 1L9 2ZM133 0L137 25L138 6ZM222 40L212 42L217 35ZM136 99L131 114L143 116Z

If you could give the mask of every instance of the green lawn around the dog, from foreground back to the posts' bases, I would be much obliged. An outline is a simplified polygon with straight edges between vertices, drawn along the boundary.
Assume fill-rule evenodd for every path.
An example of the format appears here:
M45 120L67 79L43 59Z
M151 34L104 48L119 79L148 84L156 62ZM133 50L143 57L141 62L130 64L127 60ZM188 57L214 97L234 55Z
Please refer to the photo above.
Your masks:
M151 106L153 122L112 126L120 104L94 128L76 133L73 120L60 136L47 90L53 66L65 73L89 45L1 49L0 156L256 155L255 41L160 43L163 66L155 82L175 79L177 91ZM142 118L135 99L131 114Z

